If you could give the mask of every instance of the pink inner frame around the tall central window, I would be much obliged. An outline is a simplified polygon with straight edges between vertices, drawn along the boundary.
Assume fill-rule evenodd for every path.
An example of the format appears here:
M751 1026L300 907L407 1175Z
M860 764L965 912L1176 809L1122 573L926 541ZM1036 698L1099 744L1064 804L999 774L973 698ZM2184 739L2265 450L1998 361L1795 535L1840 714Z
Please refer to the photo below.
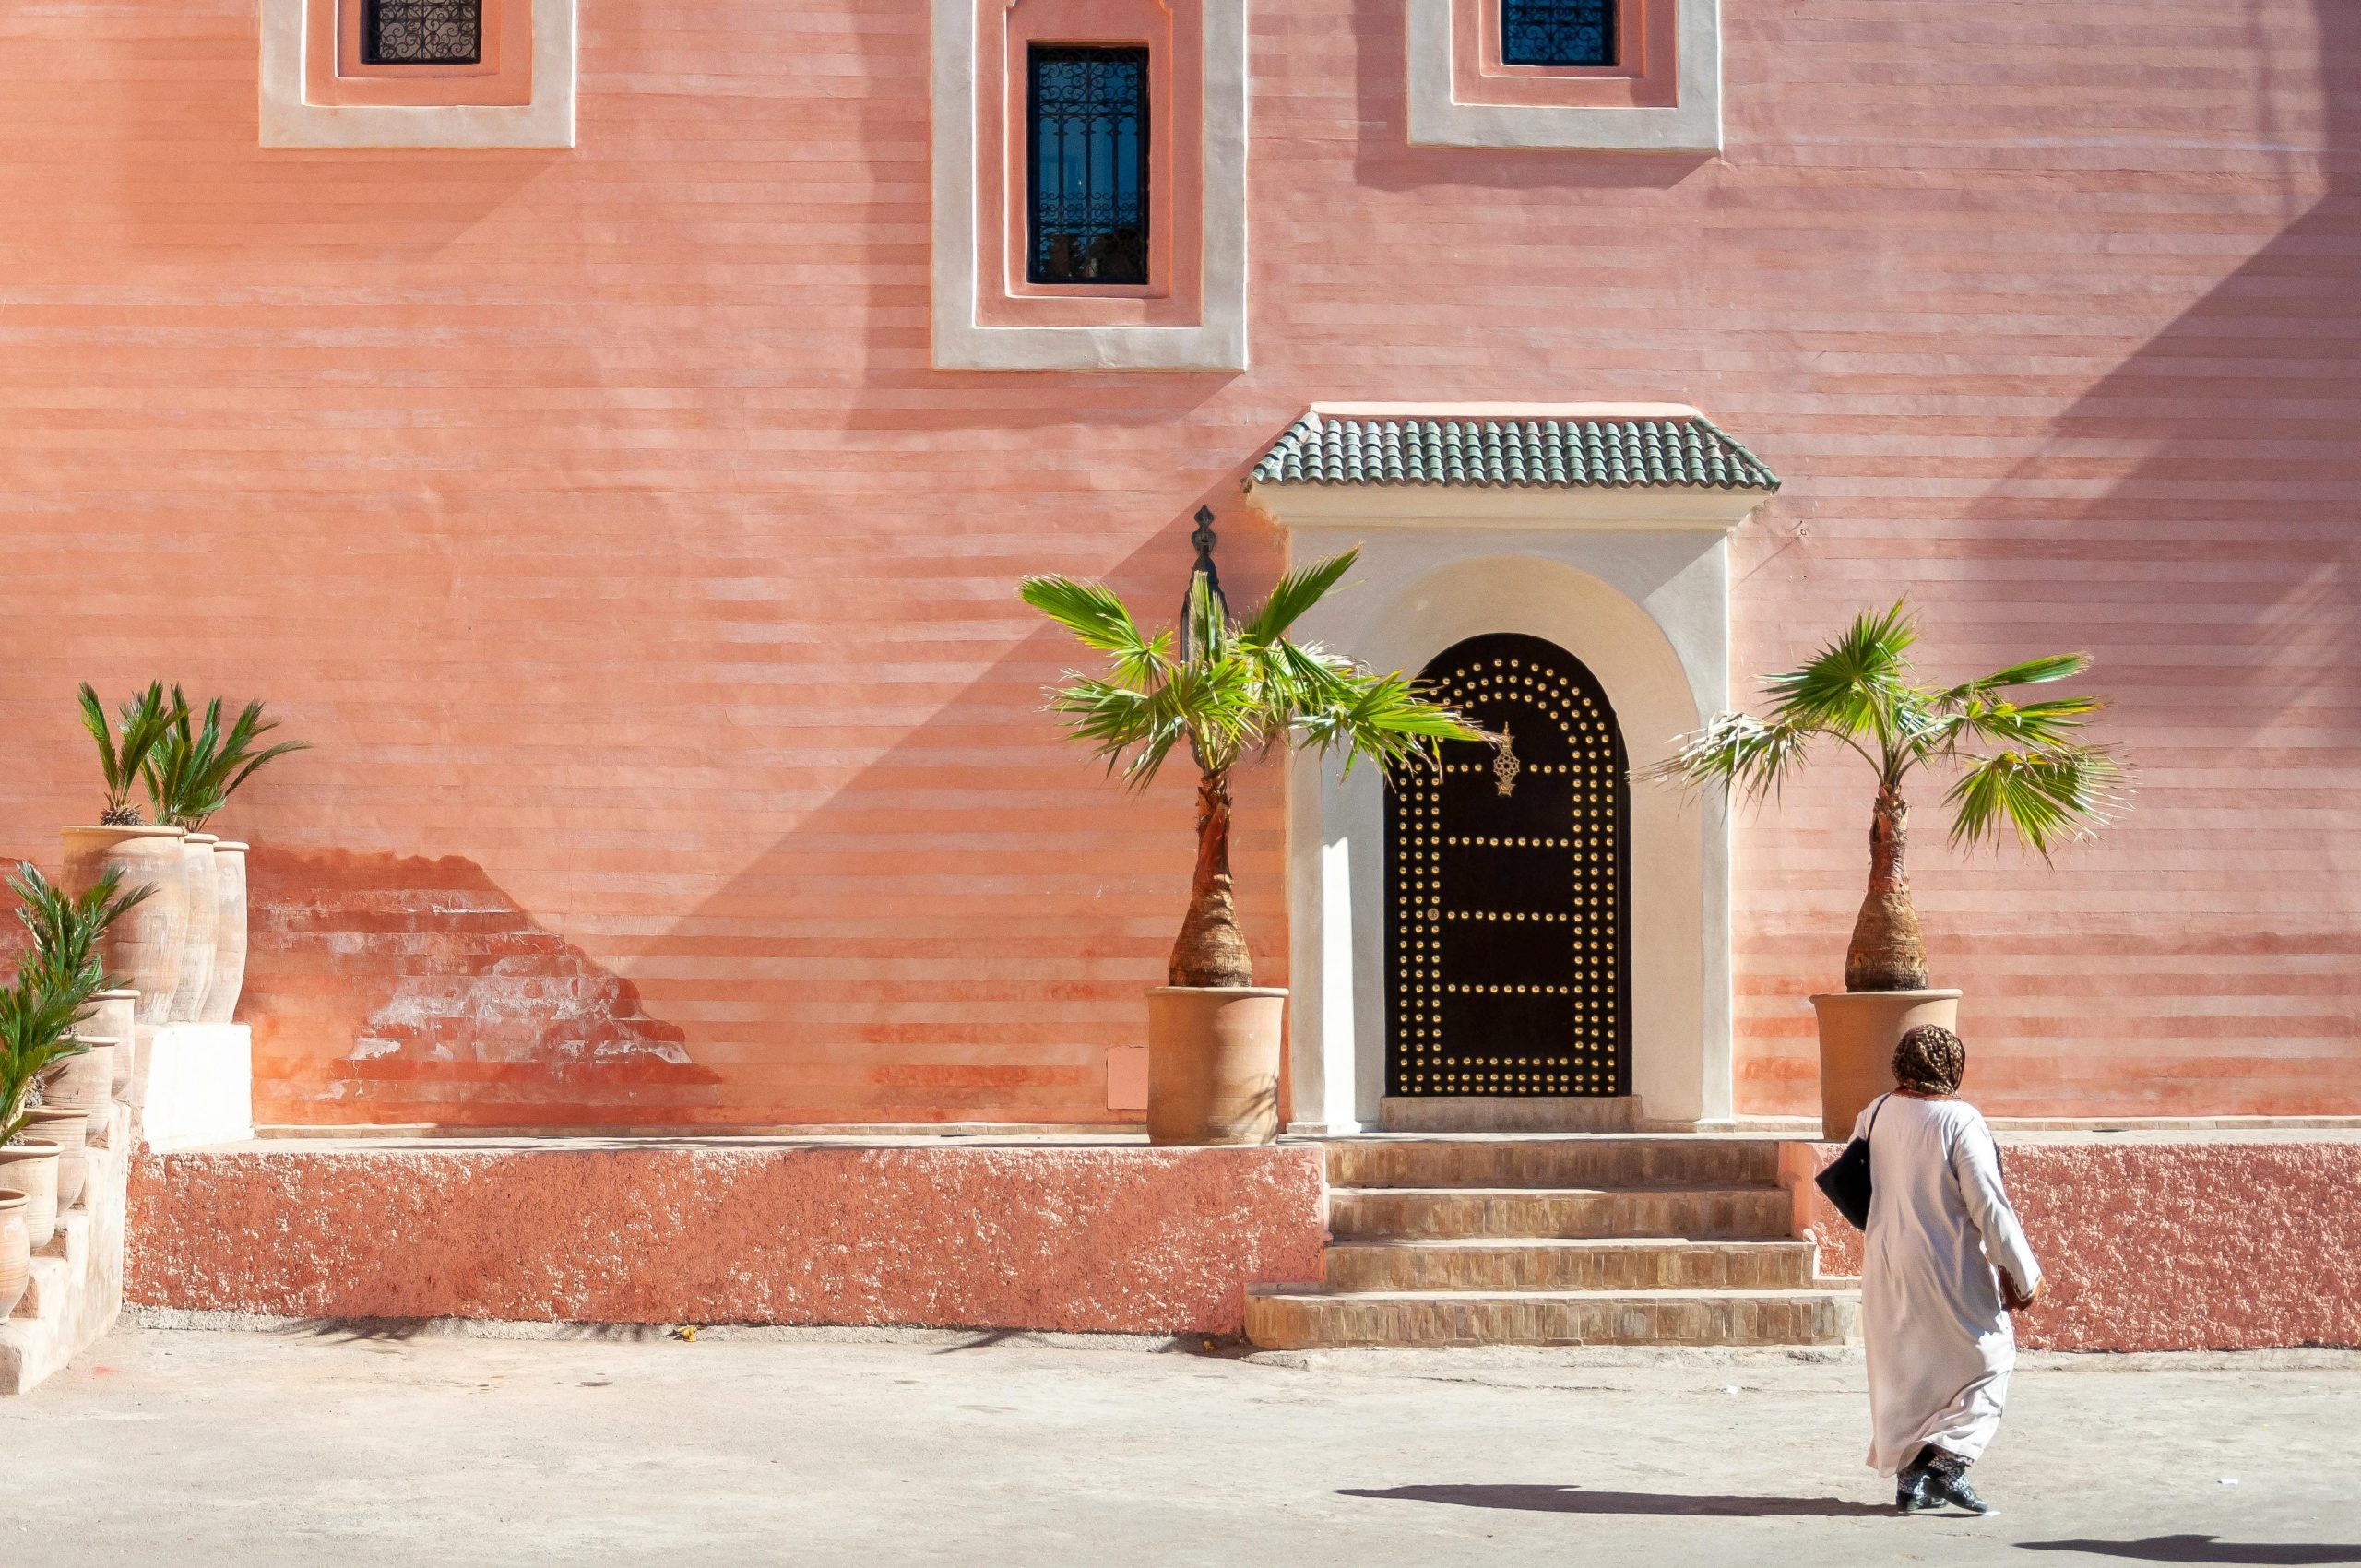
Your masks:
M975 319L980 326L1197 326L1204 319L1199 0L977 0ZM1025 279L1027 52L1147 47L1147 283Z

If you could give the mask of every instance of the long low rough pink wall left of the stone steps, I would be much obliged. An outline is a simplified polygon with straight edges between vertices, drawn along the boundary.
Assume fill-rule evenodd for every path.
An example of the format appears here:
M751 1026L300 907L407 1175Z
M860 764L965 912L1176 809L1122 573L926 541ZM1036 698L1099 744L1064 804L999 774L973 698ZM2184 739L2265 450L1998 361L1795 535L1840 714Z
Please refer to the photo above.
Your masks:
M286 1318L1235 1334L1320 1150L243 1148L139 1159L127 1299Z

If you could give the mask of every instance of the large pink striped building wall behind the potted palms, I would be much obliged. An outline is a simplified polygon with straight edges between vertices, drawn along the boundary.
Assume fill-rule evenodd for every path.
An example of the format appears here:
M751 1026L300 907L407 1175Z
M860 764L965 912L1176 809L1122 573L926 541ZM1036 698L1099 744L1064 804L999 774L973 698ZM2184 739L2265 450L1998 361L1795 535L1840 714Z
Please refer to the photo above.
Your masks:
M1901 593L1936 673L2099 656L2118 834L1917 793L1979 1098L2361 1110L2361 7L1724 19L1726 156L1483 153L1407 146L1398 5L1261 5L1254 368L959 375L921 0L602 0L562 153L262 151L246 0L0 7L0 852L97 812L76 680L262 694L267 1122L1114 1119L1190 808L1060 749L1018 574L1164 607L1214 501L1251 597L1313 399L1681 399L1787 479L1740 675ZM1865 808L1738 827L1747 1110Z

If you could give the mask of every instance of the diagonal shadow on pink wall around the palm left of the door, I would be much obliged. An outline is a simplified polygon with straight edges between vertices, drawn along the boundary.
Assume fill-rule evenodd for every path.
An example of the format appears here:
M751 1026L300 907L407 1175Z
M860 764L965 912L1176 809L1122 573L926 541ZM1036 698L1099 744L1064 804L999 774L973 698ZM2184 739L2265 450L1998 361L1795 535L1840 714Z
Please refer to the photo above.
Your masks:
M1166 623L1188 581L1188 503L1112 564L1027 562L1103 576ZM1277 567L1275 534L1223 505L1221 564L1244 612ZM1088 548L1088 545L1084 545ZM635 945L656 1008L689 1018L696 1058L730 1079L739 1122L1131 1124L1107 1108L1107 1046L1143 1044L1140 992L1162 985L1188 907L1195 775L1176 760L1129 798L1062 741L1041 690L1088 654L1018 597L1018 569L961 609L1003 652L961 671L926 718L881 716L892 744L843 775L791 831L663 935ZM862 652L866 668L951 668L918 626ZM810 751L796 727L748 732L765 753ZM1284 982L1282 770L1244 770L1232 855L1258 973ZM678 975L678 978L671 978ZM699 1008L730 975L730 1011ZM1284 1091L1282 1091L1284 1093Z

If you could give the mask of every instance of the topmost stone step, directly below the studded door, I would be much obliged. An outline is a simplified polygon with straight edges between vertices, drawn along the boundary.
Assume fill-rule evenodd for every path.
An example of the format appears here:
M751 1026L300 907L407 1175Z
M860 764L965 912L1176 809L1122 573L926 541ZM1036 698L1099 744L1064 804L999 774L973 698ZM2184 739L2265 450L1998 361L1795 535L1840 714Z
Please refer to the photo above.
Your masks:
M1339 1138L1336 1188L1742 1188L1778 1183L1775 1138Z

